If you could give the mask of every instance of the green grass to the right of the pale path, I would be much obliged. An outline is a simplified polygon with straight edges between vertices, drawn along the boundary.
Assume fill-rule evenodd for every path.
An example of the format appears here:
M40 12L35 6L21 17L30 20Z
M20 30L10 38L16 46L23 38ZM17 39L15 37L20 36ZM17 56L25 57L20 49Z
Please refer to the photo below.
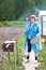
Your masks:
M46 70L46 47L43 45L43 51L39 54L39 61L41 62L40 70Z

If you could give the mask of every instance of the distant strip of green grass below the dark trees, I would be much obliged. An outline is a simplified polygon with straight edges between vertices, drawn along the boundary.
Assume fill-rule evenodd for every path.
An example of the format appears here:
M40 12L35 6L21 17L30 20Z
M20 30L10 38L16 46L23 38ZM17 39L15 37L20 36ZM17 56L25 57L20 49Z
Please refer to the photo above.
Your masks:
M16 26L16 27L25 27L26 22L18 22L18 20L5 20L5 22L0 22L0 27L11 27L11 26Z

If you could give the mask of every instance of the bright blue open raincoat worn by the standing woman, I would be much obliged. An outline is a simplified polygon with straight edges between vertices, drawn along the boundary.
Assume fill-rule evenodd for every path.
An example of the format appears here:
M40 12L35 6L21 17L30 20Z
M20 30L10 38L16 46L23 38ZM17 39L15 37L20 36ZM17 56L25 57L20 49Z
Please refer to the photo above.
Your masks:
M28 23L28 25L26 26L26 30L25 30L25 36L26 36L26 42L24 45L24 50L28 50L28 34L29 34L29 30L30 30L30 39L32 40L33 38L36 37L36 34L39 34L39 37L41 38L41 27L39 25L37 22L34 22L34 25L31 27L30 22ZM32 44L32 50L35 53L39 53L40 51L42 51L42 44L41 44L41 40L34 44Z

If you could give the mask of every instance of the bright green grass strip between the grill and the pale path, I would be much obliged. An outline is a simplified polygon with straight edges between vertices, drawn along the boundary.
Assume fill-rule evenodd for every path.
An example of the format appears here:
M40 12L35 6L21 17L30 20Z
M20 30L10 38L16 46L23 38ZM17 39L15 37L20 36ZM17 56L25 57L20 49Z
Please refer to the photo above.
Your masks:
M18 51L19 51L19 61L17 70L22 70L22 54L24 54L24 43L25 43L25 36L21 36L20 40L18 41Z

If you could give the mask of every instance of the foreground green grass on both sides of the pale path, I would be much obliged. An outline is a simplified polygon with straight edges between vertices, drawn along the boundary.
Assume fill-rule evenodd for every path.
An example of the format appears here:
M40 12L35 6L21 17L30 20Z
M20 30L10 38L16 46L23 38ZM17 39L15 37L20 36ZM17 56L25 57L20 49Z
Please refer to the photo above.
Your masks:
M25 42L25 36L22 34L21 38L19 39L17 46L18 46L18 62L16 65L17 70L22 70L22 45ZM43 51L39 54L39 61L41 62L41 66L39 70L46 70L46 47L44 44L43 45ZM17 55L17 52L15 51L15 54ZM17 59L17 58L16 58ZM13 54L11 53L11 64L9 62L9 59L5 60L5 70L15 70L15 60L13 59ZM0 70L4 70L3 67L0 67Z

